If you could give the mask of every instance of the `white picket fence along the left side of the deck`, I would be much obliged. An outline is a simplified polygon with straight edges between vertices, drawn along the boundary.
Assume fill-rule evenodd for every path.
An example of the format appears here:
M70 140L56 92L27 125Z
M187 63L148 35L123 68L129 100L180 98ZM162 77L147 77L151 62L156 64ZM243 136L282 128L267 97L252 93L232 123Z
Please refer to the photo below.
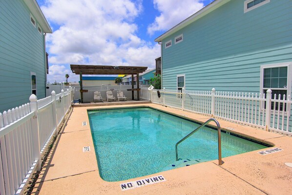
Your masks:
M21 194L71 107L73 89L0 113L0 195Z

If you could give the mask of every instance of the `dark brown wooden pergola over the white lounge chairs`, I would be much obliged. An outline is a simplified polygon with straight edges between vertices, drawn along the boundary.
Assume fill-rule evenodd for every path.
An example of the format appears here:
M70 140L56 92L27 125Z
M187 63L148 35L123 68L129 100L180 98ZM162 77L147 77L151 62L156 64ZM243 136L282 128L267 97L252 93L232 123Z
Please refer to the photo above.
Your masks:
M144 72L147 67L145 66L115 66L115 65L70 65L71 70L75 74L80 75L80 94L81 94L81 103L83 103L83 90L82 84L82 75L99 75L99 74L126 74L132 75L132 88L128 89L132 91L132 100L134 100L134 91L137 91L137 100L140 99L139 95L139 73ZM137 75L137 88L134 88L134 74Z

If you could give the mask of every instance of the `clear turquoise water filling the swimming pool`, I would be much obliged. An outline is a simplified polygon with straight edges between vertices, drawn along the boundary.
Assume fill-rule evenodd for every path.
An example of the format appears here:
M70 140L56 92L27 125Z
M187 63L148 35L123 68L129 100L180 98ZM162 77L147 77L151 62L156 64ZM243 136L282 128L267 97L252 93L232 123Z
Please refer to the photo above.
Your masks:
M217 130L151 108L88 111L96 157L105 181L121 181L218 159ZM267 148L221 133L222 157Z

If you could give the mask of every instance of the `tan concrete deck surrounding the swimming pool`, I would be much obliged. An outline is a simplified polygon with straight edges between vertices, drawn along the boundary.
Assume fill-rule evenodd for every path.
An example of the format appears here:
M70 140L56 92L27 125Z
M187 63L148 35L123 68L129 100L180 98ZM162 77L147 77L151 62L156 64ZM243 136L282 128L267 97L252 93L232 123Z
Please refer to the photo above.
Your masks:
M148 106L205 122L210 117L156 104L73 108L33 189L35 195L291 195L292 137L218 119L221 128L272 143L282 151L247 152L125 181L106 182L98 171L87 109ZM83 122L87 126L83 126ZM212 124L212 123L210 123ZM83 147L90 146L89 152ZM270 148L269 148L270 149ZM268 149L264 149L268 150ZM264 151L260 150L260 151ZM163 175L166 181L122 191L120 184Z

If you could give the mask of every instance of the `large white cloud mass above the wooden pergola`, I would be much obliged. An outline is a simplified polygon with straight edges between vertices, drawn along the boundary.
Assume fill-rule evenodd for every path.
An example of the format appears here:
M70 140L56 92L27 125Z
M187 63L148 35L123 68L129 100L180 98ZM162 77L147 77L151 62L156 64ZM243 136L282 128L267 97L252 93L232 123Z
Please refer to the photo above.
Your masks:
M160 56L159 45L136 34L142 0L46 0L41 8L56 29L46 40L50 74L62 72L58 80L71 72L69 64L154 67Z

